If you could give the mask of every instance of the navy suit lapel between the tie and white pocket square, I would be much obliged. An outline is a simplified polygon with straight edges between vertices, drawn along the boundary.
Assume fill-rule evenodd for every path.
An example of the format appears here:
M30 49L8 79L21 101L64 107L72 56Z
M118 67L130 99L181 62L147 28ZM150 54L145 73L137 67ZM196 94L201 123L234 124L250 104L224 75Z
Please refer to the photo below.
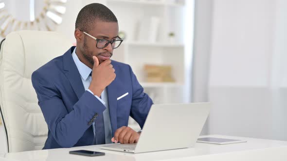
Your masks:
M111 63L112 65L113 62ZM116 66L114 66L115 71ZM117 74L117 73L116 73ZM112 137L114 136L114 133L117 130L117 78L112 81L107 86L107 92L108 92L108 109L109 109L109 117L110 117L110 123L111 123L111 129L112 129Z

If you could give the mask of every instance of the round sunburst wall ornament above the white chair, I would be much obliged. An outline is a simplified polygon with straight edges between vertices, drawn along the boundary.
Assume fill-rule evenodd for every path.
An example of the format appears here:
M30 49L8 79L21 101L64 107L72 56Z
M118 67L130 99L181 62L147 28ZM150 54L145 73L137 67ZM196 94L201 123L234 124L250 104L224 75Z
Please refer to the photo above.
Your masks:
M0 0L0 35L5 37L18 30L54 31L55 27L62 23L66 2L67 0L44 0L41 12L33 20L23 21L12 16L5 7L5 0ZM35 5L35 0L30 0L31 4Z

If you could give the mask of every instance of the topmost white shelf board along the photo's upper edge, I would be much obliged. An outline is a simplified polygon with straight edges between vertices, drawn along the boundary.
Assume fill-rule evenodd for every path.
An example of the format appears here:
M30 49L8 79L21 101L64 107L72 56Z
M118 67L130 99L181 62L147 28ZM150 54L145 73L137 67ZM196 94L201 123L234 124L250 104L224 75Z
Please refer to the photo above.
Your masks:
M162 6L175 6L180 7L184 4L182 3L172 3L172 2L163 2L161 0L108 0L108 2L125 2L125 3L131 3L131 4L147 4L147 5L162 5Z

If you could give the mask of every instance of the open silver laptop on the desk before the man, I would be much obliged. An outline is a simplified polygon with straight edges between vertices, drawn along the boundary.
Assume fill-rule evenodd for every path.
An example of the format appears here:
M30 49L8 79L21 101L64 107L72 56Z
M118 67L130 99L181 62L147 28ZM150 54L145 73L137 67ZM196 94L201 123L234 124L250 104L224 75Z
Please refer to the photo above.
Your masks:
M210 111L210 103L152 105L138 143L109 144L102 149L143 153L194 147Z

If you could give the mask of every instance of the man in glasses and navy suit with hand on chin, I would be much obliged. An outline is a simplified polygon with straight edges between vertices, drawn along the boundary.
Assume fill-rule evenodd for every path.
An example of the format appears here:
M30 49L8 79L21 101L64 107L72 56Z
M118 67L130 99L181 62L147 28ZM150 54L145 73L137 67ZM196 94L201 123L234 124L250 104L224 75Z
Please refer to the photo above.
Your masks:
M153 102L129 65L110 60L123 41L118 31L106 6L89 4L76 19L76 47L32 74L49 129L43 149L138 141L128 117L143 128Z

